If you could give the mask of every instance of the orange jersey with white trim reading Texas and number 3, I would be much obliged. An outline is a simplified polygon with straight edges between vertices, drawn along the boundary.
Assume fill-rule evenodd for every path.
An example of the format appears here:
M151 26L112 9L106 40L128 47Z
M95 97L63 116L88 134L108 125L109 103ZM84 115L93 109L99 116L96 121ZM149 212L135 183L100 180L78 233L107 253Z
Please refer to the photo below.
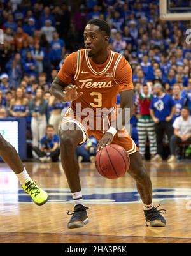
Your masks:
M87 50L78 50L66 57L59 71L59 79L64 84L75 84L77 91L83 95L73 101L75 109L77 102L81 109L115 107L117 94L133 89L132 70L125 58L108 49L109 56L105 63L95 64L87 55Z

